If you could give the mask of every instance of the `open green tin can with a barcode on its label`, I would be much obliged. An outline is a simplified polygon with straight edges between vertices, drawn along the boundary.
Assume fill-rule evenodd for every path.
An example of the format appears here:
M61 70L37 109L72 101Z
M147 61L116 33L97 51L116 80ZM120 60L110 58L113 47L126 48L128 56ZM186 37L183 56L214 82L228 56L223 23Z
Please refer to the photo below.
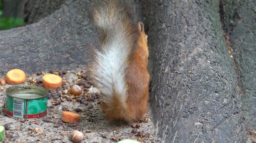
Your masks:
M36 86L6 89L5 114L12 118L34 119L47 114L48 91Z

